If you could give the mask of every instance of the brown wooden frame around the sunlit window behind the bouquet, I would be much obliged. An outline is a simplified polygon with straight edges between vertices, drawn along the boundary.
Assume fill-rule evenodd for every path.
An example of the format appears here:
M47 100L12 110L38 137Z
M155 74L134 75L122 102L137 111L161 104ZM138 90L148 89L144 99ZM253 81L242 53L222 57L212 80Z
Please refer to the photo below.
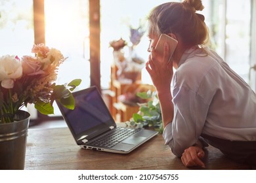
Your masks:
M90 40L90 69L91 86L100 88L100 0L89 1L89 40ZM33 22L35 44L45 44L45 1L33 0ZM96 30L96 31L95 31ZM32 122L62 120L62 116L47 116L37 111L37 118Z

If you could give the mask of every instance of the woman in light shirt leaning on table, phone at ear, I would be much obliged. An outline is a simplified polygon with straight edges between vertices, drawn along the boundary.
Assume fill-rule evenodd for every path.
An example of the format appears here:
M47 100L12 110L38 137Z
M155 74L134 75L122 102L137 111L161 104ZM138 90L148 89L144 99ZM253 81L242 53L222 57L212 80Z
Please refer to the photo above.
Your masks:
M146 70L160 100L163 138L186 167L205 167L204 139L236 161L256 165L256 95L215 52L202 1L164 3L149 15ZM154 49L160 34L178 41L168 63ZM176 69L173 73L173 67Z

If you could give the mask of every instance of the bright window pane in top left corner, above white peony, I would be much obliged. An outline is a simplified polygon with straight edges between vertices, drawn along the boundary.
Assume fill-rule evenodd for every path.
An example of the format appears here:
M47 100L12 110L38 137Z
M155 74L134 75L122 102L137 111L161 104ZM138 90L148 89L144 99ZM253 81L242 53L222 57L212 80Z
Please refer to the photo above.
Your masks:
M34 42L33 0L0 2L0 40L1 56L31 54Z

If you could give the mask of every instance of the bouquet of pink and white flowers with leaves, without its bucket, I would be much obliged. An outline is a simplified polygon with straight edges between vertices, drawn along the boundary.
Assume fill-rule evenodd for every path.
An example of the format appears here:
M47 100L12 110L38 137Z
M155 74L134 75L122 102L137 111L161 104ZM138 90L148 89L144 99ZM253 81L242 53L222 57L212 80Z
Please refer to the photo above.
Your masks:
M53 114L53 102L74 109L72 91L80 79L56 85L58 67L66 59L59 50L44 44L33 45L35 56L0 57L0 124L14 122L22 107L33 103L42 114Z

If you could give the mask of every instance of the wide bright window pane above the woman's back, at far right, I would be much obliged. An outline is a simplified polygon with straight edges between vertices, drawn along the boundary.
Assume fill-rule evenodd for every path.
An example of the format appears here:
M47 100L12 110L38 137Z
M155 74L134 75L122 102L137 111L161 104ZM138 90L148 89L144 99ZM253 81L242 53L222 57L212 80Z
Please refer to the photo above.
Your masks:
M246 82L249 82L250 39L251 1L226 1L224 59Z

